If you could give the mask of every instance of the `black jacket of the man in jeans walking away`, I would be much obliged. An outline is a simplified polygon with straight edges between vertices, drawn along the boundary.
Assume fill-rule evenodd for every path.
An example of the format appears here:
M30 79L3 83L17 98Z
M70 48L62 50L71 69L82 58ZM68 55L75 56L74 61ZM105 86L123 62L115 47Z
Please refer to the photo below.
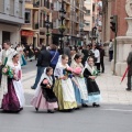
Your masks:
M51 63L50 52L46 50L41 51L36 66L47 67L50 66L50 63Z

